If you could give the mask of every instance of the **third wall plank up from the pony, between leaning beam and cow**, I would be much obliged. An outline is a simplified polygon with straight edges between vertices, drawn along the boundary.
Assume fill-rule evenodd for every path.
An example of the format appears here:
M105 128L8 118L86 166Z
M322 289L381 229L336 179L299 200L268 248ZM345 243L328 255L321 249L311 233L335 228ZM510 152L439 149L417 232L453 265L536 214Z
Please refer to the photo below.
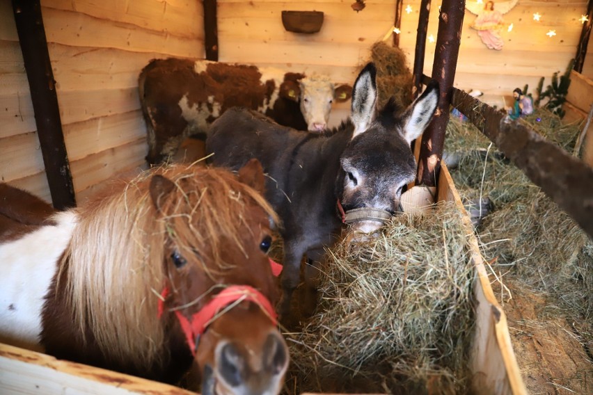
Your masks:
M105 90L58 90L62 124L81 122L107 115L128 113L140 108L138 88Z

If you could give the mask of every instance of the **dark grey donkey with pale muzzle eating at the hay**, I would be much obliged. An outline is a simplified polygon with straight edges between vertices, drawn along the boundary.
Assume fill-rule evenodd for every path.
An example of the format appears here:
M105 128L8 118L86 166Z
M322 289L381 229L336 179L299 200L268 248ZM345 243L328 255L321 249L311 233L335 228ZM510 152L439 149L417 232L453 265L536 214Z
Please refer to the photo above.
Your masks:
M437 83L398 111L391 99L377 111L377 70L369 63L356 78L350 120L326 134L282 127L259 113L232 108L212 124L206 140L215 166L240 168L251 158L267 172L266 198L283 222L285 259L279 312L290 311L303 255L305 307L315 307L315 266L340 227L374 232L400 210L402 188L413 181L411 141L432 120ZM313 296L313 299L310 297Z

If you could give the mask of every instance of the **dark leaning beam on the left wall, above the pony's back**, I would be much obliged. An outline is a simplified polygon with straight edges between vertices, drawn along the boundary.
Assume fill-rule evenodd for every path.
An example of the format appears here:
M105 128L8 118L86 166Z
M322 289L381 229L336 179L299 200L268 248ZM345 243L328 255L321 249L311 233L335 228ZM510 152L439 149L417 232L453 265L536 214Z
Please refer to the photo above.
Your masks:
M13 0L13 12L52 202L56 209L74 207L74 186L62 133L56 81L49 61L40 1Z

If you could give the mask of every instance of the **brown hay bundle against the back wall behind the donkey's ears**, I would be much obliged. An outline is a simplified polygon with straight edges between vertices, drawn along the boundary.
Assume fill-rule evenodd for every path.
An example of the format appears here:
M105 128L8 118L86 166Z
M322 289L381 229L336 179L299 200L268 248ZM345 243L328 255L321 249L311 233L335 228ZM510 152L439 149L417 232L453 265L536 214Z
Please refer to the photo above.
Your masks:
M393 96L397 106L406 108L411 103L412 73L404 51L379 41L372 45L370 56L377 67L377 106L382 108Z

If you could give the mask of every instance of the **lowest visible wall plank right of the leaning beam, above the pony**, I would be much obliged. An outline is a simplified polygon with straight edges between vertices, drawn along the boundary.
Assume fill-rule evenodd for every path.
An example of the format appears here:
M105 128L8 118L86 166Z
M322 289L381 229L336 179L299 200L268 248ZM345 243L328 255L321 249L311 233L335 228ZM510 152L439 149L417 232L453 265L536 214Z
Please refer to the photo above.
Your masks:
M72 161L70 169L74 178L74 191L78 194L90 186L100 184L117 175L120 169L143 166L147 152L148 143L144 137L126 145L96 152L77 161Z

